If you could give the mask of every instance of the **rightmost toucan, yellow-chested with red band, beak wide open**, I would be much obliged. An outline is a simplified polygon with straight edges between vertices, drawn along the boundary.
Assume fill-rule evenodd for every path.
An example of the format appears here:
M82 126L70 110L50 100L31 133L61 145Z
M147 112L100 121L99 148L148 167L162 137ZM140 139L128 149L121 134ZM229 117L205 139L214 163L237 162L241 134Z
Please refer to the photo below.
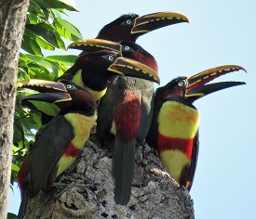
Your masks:
M146 142L157 148L168 174L180 185L191 189L198 157L199 112L194 101L244 82L208 84L223 74L243 70L224 65L191 77L178 77L155 92L154 119Z

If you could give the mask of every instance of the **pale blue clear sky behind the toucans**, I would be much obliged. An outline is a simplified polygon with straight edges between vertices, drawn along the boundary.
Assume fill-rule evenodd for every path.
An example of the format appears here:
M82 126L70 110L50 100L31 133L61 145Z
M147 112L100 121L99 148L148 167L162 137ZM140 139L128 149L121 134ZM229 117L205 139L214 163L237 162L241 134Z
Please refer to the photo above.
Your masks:
M177 76L191 76L220 65L236 64L247 70L220 78L247 85L195 102L201 117L200 148L190 194L196 219L256 218L256 2L76 0L75 4L80 12L68 12L67 19L84 38L96 37L103 25L131 12L145 15L175 11L188 17L190 24L168 26L137 41L155 56L161 85ZM78 53L70 50L53 54ZM19 205L20 193L15 187L14 195L10 192L9 212L17 213Z

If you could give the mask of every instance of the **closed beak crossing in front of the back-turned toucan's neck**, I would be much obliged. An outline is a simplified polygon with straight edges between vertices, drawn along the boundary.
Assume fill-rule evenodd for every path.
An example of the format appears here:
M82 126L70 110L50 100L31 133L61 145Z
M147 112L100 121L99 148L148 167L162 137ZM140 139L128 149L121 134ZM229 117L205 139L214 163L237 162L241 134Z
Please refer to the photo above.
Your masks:
M115 63L108 68L108 71L114 71L120 75L142 78L160 84L160 78L157 72L141 62L129 58L117 58Z

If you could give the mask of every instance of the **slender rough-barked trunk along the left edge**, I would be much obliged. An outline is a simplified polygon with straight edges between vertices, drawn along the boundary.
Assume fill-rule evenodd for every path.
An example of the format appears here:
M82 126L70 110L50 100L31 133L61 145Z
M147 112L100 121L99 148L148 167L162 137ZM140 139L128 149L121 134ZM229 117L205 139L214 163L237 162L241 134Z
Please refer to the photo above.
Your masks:
M28 0L0 0L0 218L7 218L19 50Z

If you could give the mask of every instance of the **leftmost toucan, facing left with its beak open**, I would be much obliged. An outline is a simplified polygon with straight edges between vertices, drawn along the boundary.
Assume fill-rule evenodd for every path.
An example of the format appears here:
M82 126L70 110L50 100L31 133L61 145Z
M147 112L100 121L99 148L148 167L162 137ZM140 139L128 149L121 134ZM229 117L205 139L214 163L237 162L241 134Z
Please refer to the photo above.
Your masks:
M17 179L22 200L18 218L23 218L27 197L33 198L43 188L52 186L55 178L78 157L95 124L97 110L88 91L70 81L32 79L19 82L18 86L41 92L23 97L21 104L40 100L60 108L60 113L38 130L34 146L20 166Z

